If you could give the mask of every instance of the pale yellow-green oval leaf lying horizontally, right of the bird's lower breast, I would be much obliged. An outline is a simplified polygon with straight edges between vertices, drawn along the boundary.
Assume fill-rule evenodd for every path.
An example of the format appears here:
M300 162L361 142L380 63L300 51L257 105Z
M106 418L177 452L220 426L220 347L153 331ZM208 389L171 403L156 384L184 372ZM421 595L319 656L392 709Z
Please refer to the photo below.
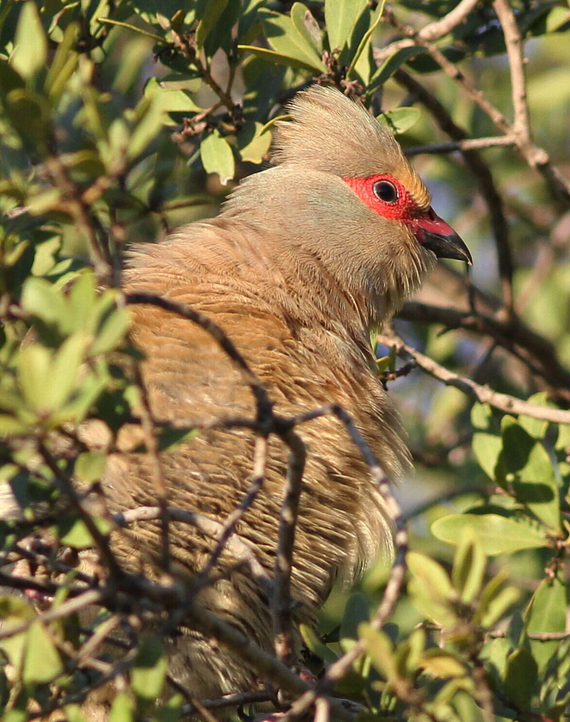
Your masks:
M431 533L448 544L458 544L465 529L473 527L488 555L548 546L545 530L536 529L521 518L499 514L451 514L434 521Z

